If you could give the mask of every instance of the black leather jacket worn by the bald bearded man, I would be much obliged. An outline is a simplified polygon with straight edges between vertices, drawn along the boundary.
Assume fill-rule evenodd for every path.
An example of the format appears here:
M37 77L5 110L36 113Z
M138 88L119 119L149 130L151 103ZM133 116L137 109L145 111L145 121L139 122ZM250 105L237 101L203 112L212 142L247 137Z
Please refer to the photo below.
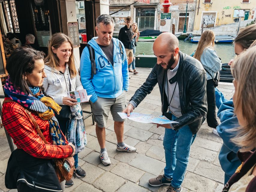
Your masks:
M150 94L156 83L158 83L161 93L162 113L167 112L168 101L164 91L164 83L167 71L156 64L149 74L146 82L137 89L131 98L137 105ZM196 134L207 113L206 99L206 72L203 65L197 59L179 51L179 68L176 75L169 80L172 84L178 81L179 101L182 116L172 124L178 130L184 125L188 125L191 132Z

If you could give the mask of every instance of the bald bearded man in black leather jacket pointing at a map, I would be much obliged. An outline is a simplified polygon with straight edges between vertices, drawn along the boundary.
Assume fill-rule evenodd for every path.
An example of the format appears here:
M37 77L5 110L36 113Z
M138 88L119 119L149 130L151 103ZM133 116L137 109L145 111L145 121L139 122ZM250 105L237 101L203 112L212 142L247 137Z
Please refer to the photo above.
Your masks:
M167 192L181 192L190 147L206 118L206 72L197 59L179 51L179 41L171 33L162 33L153 44L157 63L143 85L137 89L123 112L129 116L158 83L162 113L174 124L165 128L164 175L149 179L151 186L169 185Z

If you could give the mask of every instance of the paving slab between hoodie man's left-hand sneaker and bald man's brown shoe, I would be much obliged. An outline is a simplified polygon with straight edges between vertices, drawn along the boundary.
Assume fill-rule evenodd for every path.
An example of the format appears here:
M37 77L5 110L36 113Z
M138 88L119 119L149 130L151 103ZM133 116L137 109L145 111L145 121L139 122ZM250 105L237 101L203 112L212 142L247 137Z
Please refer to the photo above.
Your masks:
M132 167L125 163L118 163L111 171L111 173L114 173L118 176L121 176L124 179L127 179L129 181L132 181L136 183L139 181L139 179L144 175L144 171L139 170L135 167Z

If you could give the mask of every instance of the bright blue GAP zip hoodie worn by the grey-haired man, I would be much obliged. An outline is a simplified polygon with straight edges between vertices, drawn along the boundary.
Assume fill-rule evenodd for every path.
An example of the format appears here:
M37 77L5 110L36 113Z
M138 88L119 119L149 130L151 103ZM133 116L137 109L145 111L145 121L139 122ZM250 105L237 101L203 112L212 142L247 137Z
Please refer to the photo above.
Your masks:
M92 75L92 65L87 47L83 49L80 58L80 74L83 88L88 95L92 95L90 101L93 103L102 98L117 98L122 92L128 91L129 74L128 63L125 55L125 47L122 42L123 55L119 49L119 40L112 38L113 41L113 66L108 60L101 47L95 41L98 37L92 38L88 42L95 50L96 74Z

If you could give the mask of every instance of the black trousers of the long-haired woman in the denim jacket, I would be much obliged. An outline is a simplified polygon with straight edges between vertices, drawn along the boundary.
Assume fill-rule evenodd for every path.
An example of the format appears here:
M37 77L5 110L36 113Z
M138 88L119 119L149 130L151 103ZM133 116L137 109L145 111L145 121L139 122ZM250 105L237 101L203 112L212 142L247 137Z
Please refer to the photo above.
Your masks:
M206 95L208 112L206 116L207 124L211 128L216 128L219 124L216 119L216 100L215 100L215 89L212 79L207 80L206 83Z

